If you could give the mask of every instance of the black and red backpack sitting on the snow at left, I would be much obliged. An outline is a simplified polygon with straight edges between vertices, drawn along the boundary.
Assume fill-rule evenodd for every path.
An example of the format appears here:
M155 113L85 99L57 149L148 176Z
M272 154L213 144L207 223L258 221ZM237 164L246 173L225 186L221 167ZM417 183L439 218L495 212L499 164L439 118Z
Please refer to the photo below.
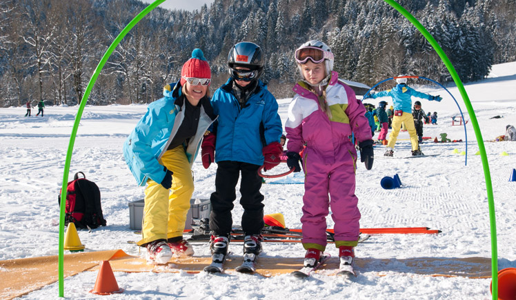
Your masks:
M79 173L84 178L79 178ZM61 192L57 201L61 205ZM100 203L100 190L97 184L86 179L83 172L75 173L74 180L66 188L65 225L72 222L76 228L97 228L106 226Z

